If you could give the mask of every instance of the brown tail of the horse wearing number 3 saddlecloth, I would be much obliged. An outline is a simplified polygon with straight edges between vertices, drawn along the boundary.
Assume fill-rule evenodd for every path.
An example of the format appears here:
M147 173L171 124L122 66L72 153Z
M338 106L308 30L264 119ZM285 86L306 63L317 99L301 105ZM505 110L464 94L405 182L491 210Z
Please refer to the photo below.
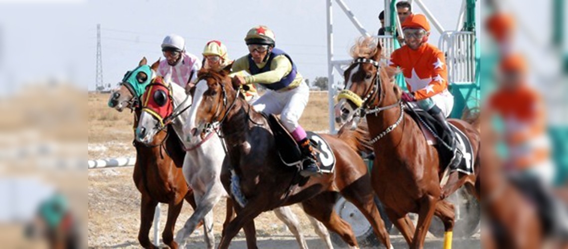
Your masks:
M351 123L343 125L339 132L337 132L337 138L345 141L351 149L357 151L359 154L373 153L373 144L371 144L367 122L363 119L361 123L357 125L356 129L352 130L350 128Z

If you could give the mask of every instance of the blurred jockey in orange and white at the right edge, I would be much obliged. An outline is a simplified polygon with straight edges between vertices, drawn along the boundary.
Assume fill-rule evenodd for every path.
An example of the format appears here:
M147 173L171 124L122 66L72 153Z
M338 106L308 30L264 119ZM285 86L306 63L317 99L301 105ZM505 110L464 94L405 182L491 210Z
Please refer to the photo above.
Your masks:
M499 87L489 96L488 109L504 124L508 149L504 169L516 187L537 204L545 228L553 235L568 236L566 206L552 195L556 168L550 159L544 99L527 83L523 56L509 54L499 69Z

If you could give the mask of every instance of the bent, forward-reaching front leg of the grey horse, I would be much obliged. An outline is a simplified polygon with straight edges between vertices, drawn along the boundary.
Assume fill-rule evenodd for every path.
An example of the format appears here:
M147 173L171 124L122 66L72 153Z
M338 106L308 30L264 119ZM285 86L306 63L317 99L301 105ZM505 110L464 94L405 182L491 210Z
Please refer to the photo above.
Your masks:
M212 185L207 189L207 192L203 195L198 191L198 189L194 189L194 195L197 202L197 208L195 208L191 217L185 222L182 229L178 231L176 234L176 242L180 243L183 240L187 239L193 231L195 231L195 227L197 224L203 220L203 218L207 215L207 213L211 212L213 206L219 202L219 199L222 197L223 187L220 183L212 183ZM208 224L205 224L208 225ZM212 227L204 227L204 231L208 231L212 229ZM205 236L210 236L209 234L204 234Z

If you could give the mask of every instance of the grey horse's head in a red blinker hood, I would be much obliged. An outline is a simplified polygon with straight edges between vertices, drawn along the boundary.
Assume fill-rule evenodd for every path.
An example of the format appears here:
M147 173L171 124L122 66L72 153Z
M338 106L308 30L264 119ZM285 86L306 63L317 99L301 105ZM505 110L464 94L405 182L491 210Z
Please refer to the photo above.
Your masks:
M172 94L172 84L165 83L162 77L149 83L141 99L142 113L136 128L136 141L151 144L154 136L168 125L174 108Z

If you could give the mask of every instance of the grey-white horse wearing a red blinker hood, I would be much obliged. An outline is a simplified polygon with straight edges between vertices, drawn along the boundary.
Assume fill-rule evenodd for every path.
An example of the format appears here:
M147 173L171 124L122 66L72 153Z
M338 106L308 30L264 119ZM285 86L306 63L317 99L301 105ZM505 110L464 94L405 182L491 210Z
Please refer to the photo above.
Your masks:
M158 98L158 99L157 99ZM189 113L184 110L188 106L191 96L186 95L185 90L173 83L165 83L163 80L155 79L149 86L142 99L143 113L136 129L136 140L145 144L155 141L156 135L164 125L171 124L176 133L171 136L185 136L183 127L189 117ZM158 103L160 102L160 103ZM174 109L174 105L176 108ZM212 234L212 208L220 199L227 198L227 192L220 182L220 172L225 158L222 141L216 133L204 137L199 141L183 142L186 156L183 162L183 174L187 184L193 188L197 208L186 221L185 225L176 235L176 241L181 243L195 230L198 222L204 220L207 236L207 246L215 246L215 238ZM306 240L299 233L299 222L289 207L274 209L274 213L279 220L286 223L289 230L294 234L300 248L307 248ZM227 216L225 226L233 216L232 205L227 201ZM329 233L325 227L311 218L316 233L325 242L328 248L333 248ZM247 232L247 240L254 239L250 235L254 231Z

